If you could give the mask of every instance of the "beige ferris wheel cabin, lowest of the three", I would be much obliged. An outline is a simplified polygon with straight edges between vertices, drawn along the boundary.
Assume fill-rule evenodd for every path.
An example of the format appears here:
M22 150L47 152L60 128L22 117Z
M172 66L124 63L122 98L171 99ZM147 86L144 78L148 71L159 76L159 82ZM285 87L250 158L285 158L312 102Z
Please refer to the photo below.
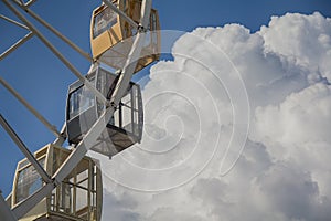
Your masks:
M49 175L54 175L71 150L46 145L34 154ZM18 164L11 196L11 208L43 187L41 176L25 158ZM30 210L20 221L99 221L103 207L102 172L97 162L85 156L72 172Z

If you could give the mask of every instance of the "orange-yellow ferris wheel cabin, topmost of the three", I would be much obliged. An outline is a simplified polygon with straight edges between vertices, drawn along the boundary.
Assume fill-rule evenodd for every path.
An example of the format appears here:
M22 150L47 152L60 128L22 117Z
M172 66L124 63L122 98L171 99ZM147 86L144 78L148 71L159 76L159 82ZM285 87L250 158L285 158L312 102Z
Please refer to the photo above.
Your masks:
M113 4L139 24L141 0L113 0ZM160 57L160 23L158 11L154 9L151 9L149 23L145 45L135 72ZM122 70L136 33L137 29L134 29L122 17L106 4L102 4L92 14L90 46L93 57L116 70Z

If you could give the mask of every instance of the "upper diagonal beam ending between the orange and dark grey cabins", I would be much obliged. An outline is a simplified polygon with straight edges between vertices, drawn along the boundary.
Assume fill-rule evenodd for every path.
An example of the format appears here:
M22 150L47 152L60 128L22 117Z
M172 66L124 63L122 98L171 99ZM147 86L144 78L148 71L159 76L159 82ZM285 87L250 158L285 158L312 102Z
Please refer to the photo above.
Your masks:
M77 46L76 44L74 44L70 39L67 39L66 36L64 36L60 31L57 31L56 29L54 29L51 24L49 24L45 20L43 20L41 17L39 17L32 10L30 10L29 8L26 8L26 7L22 6L22 4L19 4L19 3L18 3L18 6L21 7L33 19L35 19L36 21L39 21L42 25L44 25L45 28L47 28L51 32L53 32L62 41L64 41L65 43L67 43L71 48L73 48L82 56L84 56L85 59L87 59L89 62L94 62L93 59L92 59L92 56L88 53L84 52L79 46Z

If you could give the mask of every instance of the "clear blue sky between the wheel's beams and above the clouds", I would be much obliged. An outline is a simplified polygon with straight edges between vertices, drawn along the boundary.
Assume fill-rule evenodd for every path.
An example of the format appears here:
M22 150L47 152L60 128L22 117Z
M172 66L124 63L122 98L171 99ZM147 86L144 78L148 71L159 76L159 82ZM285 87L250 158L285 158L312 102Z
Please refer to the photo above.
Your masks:
M90 0L36 1L31 9L89 52L89 15L99 3ZM162 29L180 31L239 23L254 32L268 24L271 15L287 12L310 14L319 11L324 17L331 17L329 0L154 0L153 6L159 10ZM3 2L0 3L0 13L15 19ZM0 30L1 51L26 33L3 20L0 20ZM82 73L88 70L89 63L85 59L44 29L41 30ZM0 62L0 75L43 116L61 128L66 88L76 77L36 38ZM0 87L0 113L32 151L53 141L53 135L3 87ZM0 189L7 196L11 189L15 165L23 156L2 128L0 144Z

